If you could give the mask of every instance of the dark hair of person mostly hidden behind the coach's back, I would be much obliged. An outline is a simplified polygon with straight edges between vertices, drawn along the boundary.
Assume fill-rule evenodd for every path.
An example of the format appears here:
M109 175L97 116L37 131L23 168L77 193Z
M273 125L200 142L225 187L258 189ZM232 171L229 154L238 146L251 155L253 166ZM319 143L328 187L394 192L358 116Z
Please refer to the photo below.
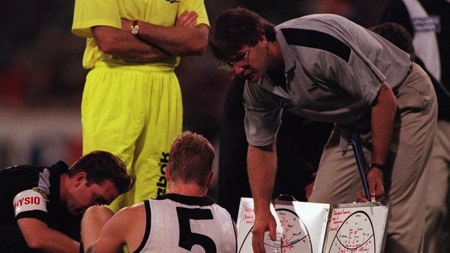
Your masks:
M406 28L397 23L388 22L378 26L372 26L369 30L384 37L384 39L387 39L390 43L397 46L397 48L404 50L410 55L411 62L414 61L413 38Z

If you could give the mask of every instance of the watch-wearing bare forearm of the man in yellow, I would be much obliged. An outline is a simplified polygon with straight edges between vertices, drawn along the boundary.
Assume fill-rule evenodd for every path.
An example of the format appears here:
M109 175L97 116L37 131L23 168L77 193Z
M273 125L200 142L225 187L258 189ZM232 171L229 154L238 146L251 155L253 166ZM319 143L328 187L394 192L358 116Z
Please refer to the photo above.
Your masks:
M138 21L138 37L170 55L202 55L208 43L209 27L204 24L196 25L196 22L195 12L183 12L177 19L176 26L171 27ZM129 30L131 25L132 21L122 19L123 29Z

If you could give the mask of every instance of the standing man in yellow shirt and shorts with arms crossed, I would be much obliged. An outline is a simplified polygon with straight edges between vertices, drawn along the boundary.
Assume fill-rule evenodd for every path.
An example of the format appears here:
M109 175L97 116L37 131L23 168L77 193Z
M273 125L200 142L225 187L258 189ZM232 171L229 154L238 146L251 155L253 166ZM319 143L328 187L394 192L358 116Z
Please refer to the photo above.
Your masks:
M83 153L102 149L124 160L135 187L114 211L165 194L172 140L183 108L174 67L201 55L209 23L202 0L76 0L72 32L87 38L90 69L82 98Z

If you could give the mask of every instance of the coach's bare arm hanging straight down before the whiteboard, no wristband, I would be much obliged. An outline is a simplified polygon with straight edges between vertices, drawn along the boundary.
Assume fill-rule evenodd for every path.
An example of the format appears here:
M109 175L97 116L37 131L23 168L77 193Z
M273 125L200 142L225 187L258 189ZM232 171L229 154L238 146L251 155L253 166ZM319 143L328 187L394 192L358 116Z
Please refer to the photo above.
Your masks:
M264 232L269 230L272 240L276 239L276 221L270 212L273 183L276 175L276 144L255 147L249 144L247 166L251 194L255 203L255 223L253 225L253 252L265 252Z

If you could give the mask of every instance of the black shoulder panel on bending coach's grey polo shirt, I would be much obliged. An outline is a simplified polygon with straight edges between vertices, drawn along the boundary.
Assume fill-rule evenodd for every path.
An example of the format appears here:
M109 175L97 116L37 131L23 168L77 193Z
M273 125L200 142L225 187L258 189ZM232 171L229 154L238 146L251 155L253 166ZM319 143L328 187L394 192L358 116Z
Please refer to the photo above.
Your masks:
M289 45L327 50L341 57L345 62L350 59L352 51L350 47L325 32L297 28L282 28L281 32Z

